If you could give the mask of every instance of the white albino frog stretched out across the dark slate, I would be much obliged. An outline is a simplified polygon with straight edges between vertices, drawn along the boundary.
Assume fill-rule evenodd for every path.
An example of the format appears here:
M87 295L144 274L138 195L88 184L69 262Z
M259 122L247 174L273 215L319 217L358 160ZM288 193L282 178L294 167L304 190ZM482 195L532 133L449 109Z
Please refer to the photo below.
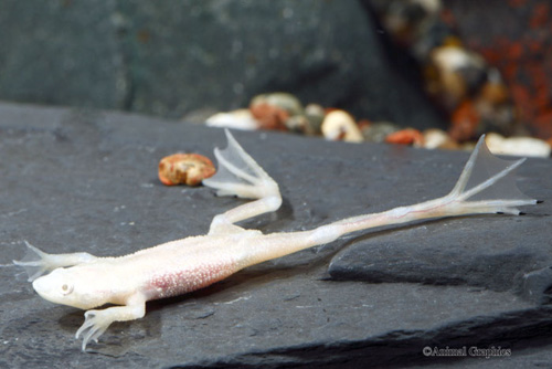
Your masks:
M87 310L76 331L82 349L113 321L139 319L146 302L185 294L236 273L250 265L280 257L338 238L380 225L421 219L482 213L520 214L517 207L535 204L514 183L513 171L524 159L506 161L492 156L481 137L454 189L445 197L374 214L358 215L310 231L263 234L236 222L282 204L278 184L247 155L226 130L229 146L215 148L219 171L203 180L219 196L255 201L213 218L209 233L163 243L119 257L88 253L46 254L26 243L25 267L36 293L55 304ZM51 272L47 275L42 274ZM129 277L132 276L132 277ZM118 306L93 309L105 304Z

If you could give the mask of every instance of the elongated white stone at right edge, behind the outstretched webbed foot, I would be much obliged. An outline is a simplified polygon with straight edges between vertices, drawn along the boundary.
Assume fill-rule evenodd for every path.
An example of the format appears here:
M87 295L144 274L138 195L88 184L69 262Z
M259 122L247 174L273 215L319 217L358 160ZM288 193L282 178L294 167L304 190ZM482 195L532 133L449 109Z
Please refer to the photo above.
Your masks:
M509 137L490 133L487 135L487 146L493 154L550 157L551 147L546 141L532 137Z

